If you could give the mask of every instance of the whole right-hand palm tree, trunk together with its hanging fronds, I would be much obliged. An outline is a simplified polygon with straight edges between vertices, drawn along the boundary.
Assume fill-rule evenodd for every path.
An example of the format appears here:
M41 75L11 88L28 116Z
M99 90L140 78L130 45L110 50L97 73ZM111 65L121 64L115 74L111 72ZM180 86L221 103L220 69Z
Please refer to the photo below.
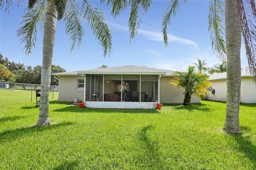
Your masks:
M171 0L166 7L163 20L163 37L168 44L167 27L181 3L186 0ZM209 33L212 47L219 58L227 57L227 106L226 121L223 130L227 133L240 133L239 99L241 88L241 31L245 42L250 72L256 78L256 6L254 0L210 1ZM225 30L222 27L222 15L225 15ZM225 38L226 37L226 42ZM256 79L255 79L256 80Z

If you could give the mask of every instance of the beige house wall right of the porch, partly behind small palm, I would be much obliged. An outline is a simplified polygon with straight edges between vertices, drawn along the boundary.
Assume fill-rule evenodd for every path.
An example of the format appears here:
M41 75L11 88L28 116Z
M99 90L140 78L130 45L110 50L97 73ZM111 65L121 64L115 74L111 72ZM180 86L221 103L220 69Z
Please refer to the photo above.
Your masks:
M170 77L160 78L160 103L183 103L185 90L170 84ZM191 103L200 103L199 97L192 95Z

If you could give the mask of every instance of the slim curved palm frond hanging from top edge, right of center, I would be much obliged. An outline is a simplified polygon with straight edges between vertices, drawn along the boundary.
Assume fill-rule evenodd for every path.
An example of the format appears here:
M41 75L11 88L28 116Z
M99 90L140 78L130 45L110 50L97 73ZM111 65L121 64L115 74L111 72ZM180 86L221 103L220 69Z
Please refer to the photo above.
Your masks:
M162 22L162 32L163 32L165 46L168 45L167 28L171 24L172 18L175 17L176 12L179 10L180 3L186 3L186 2L187 0L170 0L170 2L166 6L164 19Z

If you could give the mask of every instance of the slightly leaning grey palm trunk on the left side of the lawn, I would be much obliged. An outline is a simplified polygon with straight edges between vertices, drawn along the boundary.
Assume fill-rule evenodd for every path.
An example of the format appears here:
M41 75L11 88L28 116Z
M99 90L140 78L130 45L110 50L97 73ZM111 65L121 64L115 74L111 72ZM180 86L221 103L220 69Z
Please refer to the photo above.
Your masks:
M43 63L41 74L41 97L39 118L37 126L51 125L49 120L49 95L51 83L51 66L55 37L55 28L57 21L57 11L53 0L48 0L47 12L44 20L44 37L43 37Z

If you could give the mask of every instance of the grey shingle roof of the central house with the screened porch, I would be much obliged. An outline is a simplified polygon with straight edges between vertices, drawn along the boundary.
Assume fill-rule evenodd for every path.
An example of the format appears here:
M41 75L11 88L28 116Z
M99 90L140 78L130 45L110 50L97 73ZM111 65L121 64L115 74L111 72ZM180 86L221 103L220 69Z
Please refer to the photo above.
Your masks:
M149 68L145 66L116 66L116 67L107 67L100 69L92 70L81 70L73 72L63 72L63 73L53 73L52 75L78 75L78 74L161 74L165 76L170 76L174 73L171 70L163 70L156 68Z

